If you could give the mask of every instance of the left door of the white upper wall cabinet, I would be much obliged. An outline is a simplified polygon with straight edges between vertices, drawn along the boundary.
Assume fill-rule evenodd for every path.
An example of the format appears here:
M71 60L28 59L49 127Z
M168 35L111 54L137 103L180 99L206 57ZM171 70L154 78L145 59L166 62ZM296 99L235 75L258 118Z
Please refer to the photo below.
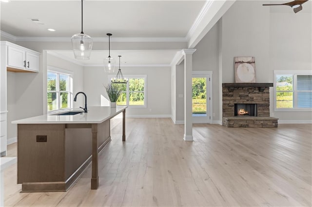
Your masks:
M8 47L8 66L13 68L25 69L25 51Z

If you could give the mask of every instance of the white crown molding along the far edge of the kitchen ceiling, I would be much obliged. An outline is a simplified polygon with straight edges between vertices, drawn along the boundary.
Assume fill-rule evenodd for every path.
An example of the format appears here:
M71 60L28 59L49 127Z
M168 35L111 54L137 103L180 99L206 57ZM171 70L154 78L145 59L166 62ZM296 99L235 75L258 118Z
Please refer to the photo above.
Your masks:
M71 42L71 37L48 37L48 36L14 36L1 32L1 36L14 41L25 42ZM94 42L108 42L107 37L93 37ZM111 42L187 42L186 37L114 37Z

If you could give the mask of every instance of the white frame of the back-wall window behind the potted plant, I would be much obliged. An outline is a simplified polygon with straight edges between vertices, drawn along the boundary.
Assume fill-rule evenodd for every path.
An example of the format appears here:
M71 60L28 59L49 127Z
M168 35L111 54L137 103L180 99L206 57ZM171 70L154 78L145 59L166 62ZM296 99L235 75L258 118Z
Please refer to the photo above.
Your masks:
M115 78L116 75L108 75L108 83L111 83L111 79ZM144 93L144 105L129 105L129 93L136 92L136 91L129 91L129 81L127 82L126 86L126 105L118 105L118 106L128 106L129 108L146 108L147 107L147 95L146 95L146 82L147 82L147 75L125 75L123 77L127 80L129 79L136 79L136 78L143 78L144 79L144 91L138 91Z

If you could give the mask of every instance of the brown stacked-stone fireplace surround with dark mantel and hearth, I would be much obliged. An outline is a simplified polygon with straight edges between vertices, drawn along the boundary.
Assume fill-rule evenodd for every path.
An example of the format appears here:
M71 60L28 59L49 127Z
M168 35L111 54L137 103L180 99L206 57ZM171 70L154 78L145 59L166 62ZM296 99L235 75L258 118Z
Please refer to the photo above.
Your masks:
M222 125L227 127L277 127L270 117L270 92L273 83L222 84ZM257 104L257 116L234 116L234 104Z

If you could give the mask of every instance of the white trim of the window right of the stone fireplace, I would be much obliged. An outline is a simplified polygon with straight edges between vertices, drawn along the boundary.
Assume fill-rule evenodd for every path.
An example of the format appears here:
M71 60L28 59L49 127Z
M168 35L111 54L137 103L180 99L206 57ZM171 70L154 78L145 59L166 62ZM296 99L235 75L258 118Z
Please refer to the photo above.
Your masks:
M293 91L293 108L276 108L276 75L293 75L292 91ZM297 106L296 93L297 75L312 75L312 70L274 70L274 111L312 111L312 108L295 108Z

